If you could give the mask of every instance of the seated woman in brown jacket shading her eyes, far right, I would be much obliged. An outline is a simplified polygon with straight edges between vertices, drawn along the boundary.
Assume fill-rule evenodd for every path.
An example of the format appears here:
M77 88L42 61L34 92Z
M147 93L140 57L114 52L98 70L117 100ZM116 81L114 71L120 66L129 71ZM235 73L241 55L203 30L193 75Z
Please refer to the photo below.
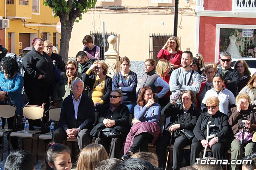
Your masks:
M254 109L250 105L250 102L250 96L246 93L239 93L236 96L236 107L230 109L230 117L228 120L229 125L232 127L234 136L242 132L242 122L247 126L248 131L252 132L256 130L256 115ZM238 139L241 141L242 138L234 138L234 136L233 140L231 140L231 160L242 159L244 156L256 152L256 143L252 142L252 140L244 140L245 155L243 156L242 144L238 141ZM232 170L237 170L239 166L240 165L234 164L231 165L231 168Z

